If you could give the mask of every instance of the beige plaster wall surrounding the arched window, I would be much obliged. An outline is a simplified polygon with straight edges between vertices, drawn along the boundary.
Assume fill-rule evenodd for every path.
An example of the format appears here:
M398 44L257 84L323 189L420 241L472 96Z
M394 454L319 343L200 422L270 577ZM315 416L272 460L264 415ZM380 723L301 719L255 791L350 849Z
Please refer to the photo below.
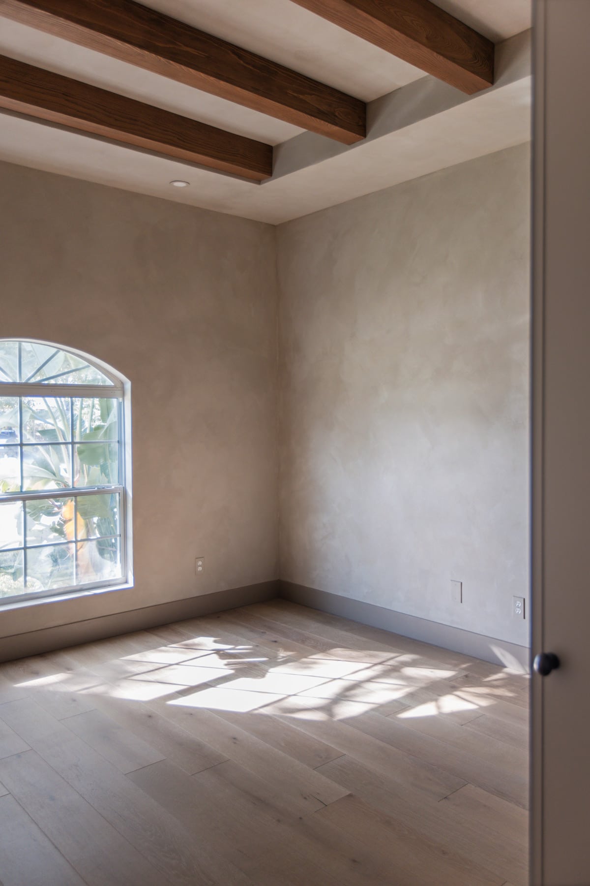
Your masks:
M131 381L135 579L0 636L278 578L271 226L0 164L0 305Z

